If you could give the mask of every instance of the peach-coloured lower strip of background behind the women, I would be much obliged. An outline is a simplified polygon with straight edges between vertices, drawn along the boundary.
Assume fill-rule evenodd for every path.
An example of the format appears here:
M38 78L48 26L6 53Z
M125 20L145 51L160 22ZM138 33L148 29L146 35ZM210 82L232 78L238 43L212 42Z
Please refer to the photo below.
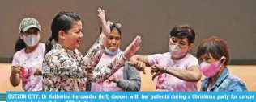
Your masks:
M256 91L256 66L228 66L234 75L243 80L250 91ZM11 64L0 63L0 92L6 91L23 91L21 84L18 87L12 87L9 81L11 75ZM151 80L150 70L147 69L146 75L140 73L142 77L141 91L154 91L155 83ZM203 78L202 78L203 79ZM201 82L198 82L198 90Z

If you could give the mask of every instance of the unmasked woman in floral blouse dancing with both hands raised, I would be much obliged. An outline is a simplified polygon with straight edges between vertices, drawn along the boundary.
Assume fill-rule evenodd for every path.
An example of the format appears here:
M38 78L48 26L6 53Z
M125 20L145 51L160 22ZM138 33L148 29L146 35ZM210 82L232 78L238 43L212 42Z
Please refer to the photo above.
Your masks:
M83 55L77 50L82 34L82 22L73 12L60 12L53 18L52 35L46 43L43 62L43 89L45 91L85 91L87 80L102 82L113 75L139 50L141 37L137 36L122 55L109 64L96 67L105 52L110 22L105 21L105 11L98 9L102 33L96 43ZM52 40L56 42L52 45Z

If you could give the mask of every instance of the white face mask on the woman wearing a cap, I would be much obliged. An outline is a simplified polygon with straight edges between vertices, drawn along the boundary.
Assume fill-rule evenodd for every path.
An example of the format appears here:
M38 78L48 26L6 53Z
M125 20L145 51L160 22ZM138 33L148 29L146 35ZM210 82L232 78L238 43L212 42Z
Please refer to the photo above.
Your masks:
M26 45L28 45L29 47L33 47L38 43L39 35L34 35L34 34L28 35L28 36L23 35L23 39Z

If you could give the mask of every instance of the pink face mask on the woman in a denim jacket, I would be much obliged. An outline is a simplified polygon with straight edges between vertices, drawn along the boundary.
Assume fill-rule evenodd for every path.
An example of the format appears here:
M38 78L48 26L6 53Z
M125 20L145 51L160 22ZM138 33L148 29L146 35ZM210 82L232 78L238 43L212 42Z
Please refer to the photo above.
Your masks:
M226 59L224 56L220 59ZM220 71L221 65L224 63L220 63L220 60L215 63L200 63L201 71L203 72L203 75L206 77L211 77L215 75L218 71Z

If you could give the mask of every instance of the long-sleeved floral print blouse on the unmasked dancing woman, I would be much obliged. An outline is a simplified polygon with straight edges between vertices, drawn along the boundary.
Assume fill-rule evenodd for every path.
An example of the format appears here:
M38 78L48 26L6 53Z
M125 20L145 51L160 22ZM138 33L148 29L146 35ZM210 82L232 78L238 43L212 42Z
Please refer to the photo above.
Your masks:
M43 62L43 90L44 91L85 91L87 80L102 82L123 67L126 58L117 56L111 63L96 67L105 47L97 39L96 43L83 55L75 51L66 50L55 43L53 49L45 55Z

